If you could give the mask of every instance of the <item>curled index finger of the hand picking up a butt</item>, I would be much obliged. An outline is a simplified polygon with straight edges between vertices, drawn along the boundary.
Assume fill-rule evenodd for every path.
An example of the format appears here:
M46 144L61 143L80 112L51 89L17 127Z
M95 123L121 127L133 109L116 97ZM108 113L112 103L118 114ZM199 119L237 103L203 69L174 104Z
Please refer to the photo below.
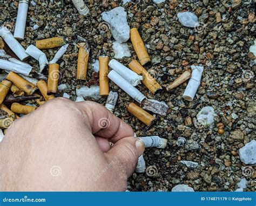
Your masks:
M104 106L93 101L76 104L88 118L92 134L107 138L113 143L127 136L133 136L133 129Z

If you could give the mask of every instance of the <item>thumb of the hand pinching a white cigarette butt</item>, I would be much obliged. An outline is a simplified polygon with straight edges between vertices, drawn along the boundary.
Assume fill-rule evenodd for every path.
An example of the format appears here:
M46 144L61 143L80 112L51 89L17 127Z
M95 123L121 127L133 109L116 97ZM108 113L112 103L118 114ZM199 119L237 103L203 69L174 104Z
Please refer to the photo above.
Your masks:
M131 176L138 163L138 158L143 154L145 145L138 138L129 137L118 140L105 155L110 161L117 162L122 168L122 173Z

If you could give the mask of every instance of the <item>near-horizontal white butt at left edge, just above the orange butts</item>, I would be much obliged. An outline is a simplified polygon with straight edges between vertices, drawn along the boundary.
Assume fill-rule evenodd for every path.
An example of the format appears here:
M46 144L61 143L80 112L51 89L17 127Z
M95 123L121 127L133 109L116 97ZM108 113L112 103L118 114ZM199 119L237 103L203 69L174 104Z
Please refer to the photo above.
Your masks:
M9 60L15 61L17 63L16 60L14 60L14 58L9 58ZM2 70L6 70L6 71L12 71L12 72L16 72L16 73L21 73L24 75L29 75L29 73L32 70L32 66L30 65L25 65L25 64L16 64L14 62L11 62L9 60L5 60L5 59L0 59L0 68L2 68Z

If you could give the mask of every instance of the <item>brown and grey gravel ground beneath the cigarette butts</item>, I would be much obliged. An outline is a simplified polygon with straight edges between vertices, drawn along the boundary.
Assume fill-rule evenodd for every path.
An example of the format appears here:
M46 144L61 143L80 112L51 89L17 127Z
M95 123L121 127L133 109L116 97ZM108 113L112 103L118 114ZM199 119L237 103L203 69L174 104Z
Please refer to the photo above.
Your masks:
M139 1L139 0L138 0ZM137 88L147 98L165 101L170 111L165 117L157 116L150 128L126 111L125 105L133 102L120 88L110 83L111 90L119 92L114 111L119 118L132 126L138 136L159 135L169 140L165 149L146 149L144 159L147 167L154 170L153 177L146 173L134 173L129 179L131 191L170 191L177 184L188 184L195 191L233 191L241 178L246 178L247 189L255 191L256 169L240 161L238 150L255 138L255 87L254 55L249 52L255 39L254 3L251 0L234 1L176 1L154 4L151 0L140 2L109 1L103 8L101 1L88 0L90 17L80 16L70 0L30 2L25 39L26 48L37 39L65 36L70 43L63 60L60 61L62 77L60 84L67 84L62 92L76 98L75 89L85 85L76 80L78 49L77 36L88 40L90 64L87 79L90 80L92 60L100 55L113 58L111 32L100 32L103 21L100 13L116 6L127 11L127 22L131 28L139 29L152 59L146 68L162 85L176 79L191 65L203 65L201 85L192 102L185 101L182 94L186 83L171 92L162 91L152 95L145 86ZM18 1L0 0L0 25L14 22ZM199 17L196 29L181 25L177 13L191 11ZM33 30L34 25L39 28ZM128 41L132 56L123 58L127 65L136 53ZM44 50L52 59L57 49ZM37 65L36 60L30 60ZM45 75L47 71L45 71ZM105 98L98 100L105 104ZM200 126L196 115L201 108L212 106L218 116L210 127ZM186 118L186 121L185 121ZM224 124L224 134L218 133L217 123ZM219 125L219 127L223 127ZM177 145L179 137L186 139ZM198 162L197 168L188 168L181 160Z

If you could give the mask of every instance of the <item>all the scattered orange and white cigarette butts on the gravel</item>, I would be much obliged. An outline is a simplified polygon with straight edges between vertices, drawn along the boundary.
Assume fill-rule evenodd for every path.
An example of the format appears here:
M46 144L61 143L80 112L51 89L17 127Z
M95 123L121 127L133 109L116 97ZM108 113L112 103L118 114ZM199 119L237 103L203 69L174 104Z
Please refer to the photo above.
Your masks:
M78 12L81 15L89 15L90 11L84 4L83 0L72 0ZM11 123L21 115L29 114L46 101L54 99L58 94L59 80L59 60L66 52L69 44L66 43L64 37L53 37L48 39L36 40L35 45L26 48L18 42L24 39L26 16L28 13L29 0L20 0L18 5L18 13L14 35L5 26L0 26L0 69L4 70L0 74L0 142L4 138L6 129ZM180 84L188 81L187 87L183 94L183 98L192 101L200 85L201 75L203 73L202 66L191 66L191 70L186 70L171 84L163 88L152 75L147 72L147 65L150 65L151 59L146 51L143 40L136 28L130 29L130 39L133 49L137 54L137 58L133 59L129 68L119 63L117 60L110 60L107 56L99 56L99 95L107 96L105 107L110 112L114 111L117 104L118 93L110 91L109 79L126 92L137 104L128 102L127 111L136 116L147 126L151 126L156 118L147 111L165 116L169 107L165 102L159 102L154 99L147 99L136 86L143 84L152 94L156 94L161 90L171 91ZM90 48L86 39L77 43L79 48L77 60L77 76L78 80L87 79L87 65L89 61ZM48 61L42 50L60 47L52 60ZM28 58L34 58L38 61L39 68L25 63ZM112 69L109 70L109 67ZM48 68L48 78L45 73ZM47 82L46 82L47 80ZM69 98L68 94L64 97ZM35 100L35 104L21 104ZM79 101L79 100L77 100ZM84 101L84 99L83 99ZM139 104L139 105L138 105ZM3 130L2 130L3 129ZM134 135L136 136L136 134ZM144 142L145 147L165 148L167 140L159 136L139 137ZM143 173L146 169L143 155L139 157L136 171Z

